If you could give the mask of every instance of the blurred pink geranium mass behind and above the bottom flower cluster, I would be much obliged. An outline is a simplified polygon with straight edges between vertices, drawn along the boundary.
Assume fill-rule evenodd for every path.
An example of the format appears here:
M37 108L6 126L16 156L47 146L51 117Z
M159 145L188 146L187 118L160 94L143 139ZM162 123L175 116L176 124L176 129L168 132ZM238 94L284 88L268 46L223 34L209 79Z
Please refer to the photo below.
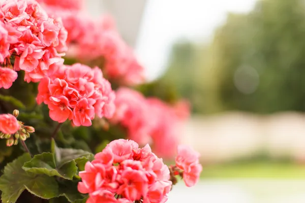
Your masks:
M189 113L186 104L172 107L157 98L145 98L135 90L119 88L115 106L110 122L124 126L130 139L140 145L153 144L154 151L163 157L175 154L182 123Z

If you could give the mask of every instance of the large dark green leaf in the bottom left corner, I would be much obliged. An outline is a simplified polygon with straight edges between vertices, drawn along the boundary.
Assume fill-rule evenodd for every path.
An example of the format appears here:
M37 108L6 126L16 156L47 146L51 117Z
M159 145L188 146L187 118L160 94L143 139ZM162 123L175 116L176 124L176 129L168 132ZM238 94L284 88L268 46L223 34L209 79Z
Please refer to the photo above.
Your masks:
M24 162L29 160L31 156L26 153L5 166L0 178L3 202L16 202L24 189L44 199L59 196L58 184L54 178L22 169Z

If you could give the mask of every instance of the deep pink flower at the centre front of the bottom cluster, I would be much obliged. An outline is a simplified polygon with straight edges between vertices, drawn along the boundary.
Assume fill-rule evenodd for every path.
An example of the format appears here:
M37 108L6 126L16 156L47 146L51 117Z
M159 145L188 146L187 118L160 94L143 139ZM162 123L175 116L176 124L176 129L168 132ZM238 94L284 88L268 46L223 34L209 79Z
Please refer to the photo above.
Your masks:
M118 194L122 194L132 201L140 199L141 196L146 196L148 180L143 171L126 168L122 174L121 181L123 181L123 184L118 188Z

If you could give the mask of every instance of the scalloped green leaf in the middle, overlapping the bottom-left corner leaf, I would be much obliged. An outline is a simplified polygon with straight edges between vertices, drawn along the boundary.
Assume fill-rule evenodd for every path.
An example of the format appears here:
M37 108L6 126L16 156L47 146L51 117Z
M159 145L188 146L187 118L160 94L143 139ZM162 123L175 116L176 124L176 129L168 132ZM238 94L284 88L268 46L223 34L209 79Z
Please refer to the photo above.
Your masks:
M65 163L62 167L57 167L54 155L50 152L35 155L32 160L24 163L22 168L35 174L58 176L68 180L72 180L73 176L77 174L77 166L74 160Z

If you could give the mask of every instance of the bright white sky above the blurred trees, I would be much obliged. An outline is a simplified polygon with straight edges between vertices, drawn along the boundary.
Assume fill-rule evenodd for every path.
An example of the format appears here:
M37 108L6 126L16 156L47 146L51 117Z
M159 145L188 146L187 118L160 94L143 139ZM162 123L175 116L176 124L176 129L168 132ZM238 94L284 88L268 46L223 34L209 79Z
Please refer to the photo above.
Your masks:
M255 0L147 0L136 53L152 80L163 73L181 38L207 41L228 12L248 12Z

